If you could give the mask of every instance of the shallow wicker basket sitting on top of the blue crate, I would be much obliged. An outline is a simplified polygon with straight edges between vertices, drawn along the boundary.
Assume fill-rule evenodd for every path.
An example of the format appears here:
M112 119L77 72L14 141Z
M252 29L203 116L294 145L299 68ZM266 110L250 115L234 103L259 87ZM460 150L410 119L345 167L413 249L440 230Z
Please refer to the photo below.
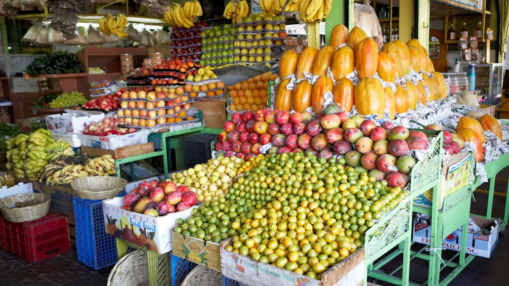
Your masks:
M83 177L71 182L74 194L87 200L113 198L120 194L126 185L126 179L107 176Z

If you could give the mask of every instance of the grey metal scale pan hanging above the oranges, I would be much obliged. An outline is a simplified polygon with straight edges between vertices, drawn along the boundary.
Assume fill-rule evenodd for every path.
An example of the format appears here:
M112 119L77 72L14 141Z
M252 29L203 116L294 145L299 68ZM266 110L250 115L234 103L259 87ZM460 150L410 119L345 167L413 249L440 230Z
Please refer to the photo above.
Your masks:
M213 70L214 74L226 85L235 85L244 80L259 76L268 72L270 69L267 65L259 63L251 66L228 66L221 69Z

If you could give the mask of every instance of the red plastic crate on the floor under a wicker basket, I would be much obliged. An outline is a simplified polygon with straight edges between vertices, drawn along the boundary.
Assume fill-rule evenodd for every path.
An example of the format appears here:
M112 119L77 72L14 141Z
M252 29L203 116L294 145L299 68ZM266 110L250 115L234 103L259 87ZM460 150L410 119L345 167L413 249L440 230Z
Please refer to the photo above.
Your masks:
M67 215L48 213L45 217L11 223L0 216L2 249L28 262L39 262L71 249Z

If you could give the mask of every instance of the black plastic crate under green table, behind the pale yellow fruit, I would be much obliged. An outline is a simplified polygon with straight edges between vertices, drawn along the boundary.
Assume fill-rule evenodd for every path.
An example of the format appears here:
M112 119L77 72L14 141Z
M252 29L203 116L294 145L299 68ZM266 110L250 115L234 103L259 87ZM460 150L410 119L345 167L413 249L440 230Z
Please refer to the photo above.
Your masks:
M217 138L215 134L200 134L184 138L184 165L192 168L196 164L206 163L212 158L210 142Z

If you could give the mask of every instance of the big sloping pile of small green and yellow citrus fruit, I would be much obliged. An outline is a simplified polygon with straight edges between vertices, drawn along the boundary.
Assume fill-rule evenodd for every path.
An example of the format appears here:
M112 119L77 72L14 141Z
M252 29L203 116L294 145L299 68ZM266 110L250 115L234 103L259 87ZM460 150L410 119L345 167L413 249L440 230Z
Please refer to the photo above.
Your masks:
M343 158L299 151L249 162L224 198L200 206L175 231L214 242L232 237L229 251L320 279L408 196L355 172Z

